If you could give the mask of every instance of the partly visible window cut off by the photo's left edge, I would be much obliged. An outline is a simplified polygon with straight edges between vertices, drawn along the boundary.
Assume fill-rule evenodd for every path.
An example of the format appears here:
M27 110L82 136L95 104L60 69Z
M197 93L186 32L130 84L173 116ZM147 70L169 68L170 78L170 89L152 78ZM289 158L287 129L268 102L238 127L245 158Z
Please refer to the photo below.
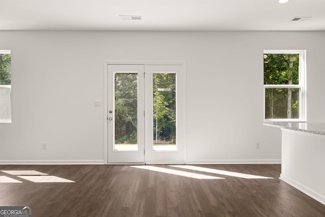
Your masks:
M0 50L0 123L11 123L10 50Z

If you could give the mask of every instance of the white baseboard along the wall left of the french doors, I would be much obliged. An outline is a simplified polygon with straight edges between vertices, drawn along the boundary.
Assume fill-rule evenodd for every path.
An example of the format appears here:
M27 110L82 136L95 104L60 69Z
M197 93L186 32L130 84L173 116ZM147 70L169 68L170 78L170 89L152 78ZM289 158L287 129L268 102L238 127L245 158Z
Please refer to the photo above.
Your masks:
M73 165L104 164L104 160L0 160L0 165Z

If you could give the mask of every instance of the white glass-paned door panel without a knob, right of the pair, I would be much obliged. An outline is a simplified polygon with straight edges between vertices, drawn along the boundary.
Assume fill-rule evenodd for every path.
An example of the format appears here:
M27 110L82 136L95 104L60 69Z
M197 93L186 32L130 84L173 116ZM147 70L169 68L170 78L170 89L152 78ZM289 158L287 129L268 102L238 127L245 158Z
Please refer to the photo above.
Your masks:
M184 64L146 64L146 163L185 163Z

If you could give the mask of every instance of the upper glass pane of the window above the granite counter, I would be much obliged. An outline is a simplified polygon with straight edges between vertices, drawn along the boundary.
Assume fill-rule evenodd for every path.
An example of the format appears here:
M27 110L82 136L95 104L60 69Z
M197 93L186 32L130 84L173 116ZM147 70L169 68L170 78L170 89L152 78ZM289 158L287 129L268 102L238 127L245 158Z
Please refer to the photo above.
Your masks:
M299 84L299 54L264 54L264 84Z

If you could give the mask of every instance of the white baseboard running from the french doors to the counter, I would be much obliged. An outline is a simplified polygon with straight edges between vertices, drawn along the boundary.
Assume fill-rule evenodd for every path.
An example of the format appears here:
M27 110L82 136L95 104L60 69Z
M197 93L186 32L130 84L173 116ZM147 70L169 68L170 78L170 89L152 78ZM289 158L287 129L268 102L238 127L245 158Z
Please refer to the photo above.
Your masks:
M187 160L186 164L281 164L281 159L267 160Z

